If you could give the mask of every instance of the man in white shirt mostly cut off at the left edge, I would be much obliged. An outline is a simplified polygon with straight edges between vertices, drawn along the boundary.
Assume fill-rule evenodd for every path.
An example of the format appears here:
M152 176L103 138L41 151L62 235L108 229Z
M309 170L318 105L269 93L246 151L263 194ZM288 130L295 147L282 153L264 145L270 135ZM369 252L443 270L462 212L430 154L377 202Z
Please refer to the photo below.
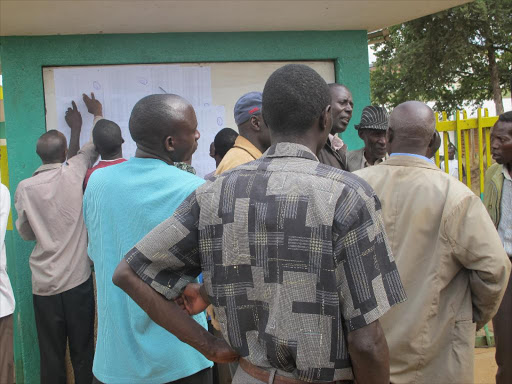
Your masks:
M0 383L13 383L13 312L14 294L7 275L7 259L5 255L5 232L11 208L9 190L0 184Z

